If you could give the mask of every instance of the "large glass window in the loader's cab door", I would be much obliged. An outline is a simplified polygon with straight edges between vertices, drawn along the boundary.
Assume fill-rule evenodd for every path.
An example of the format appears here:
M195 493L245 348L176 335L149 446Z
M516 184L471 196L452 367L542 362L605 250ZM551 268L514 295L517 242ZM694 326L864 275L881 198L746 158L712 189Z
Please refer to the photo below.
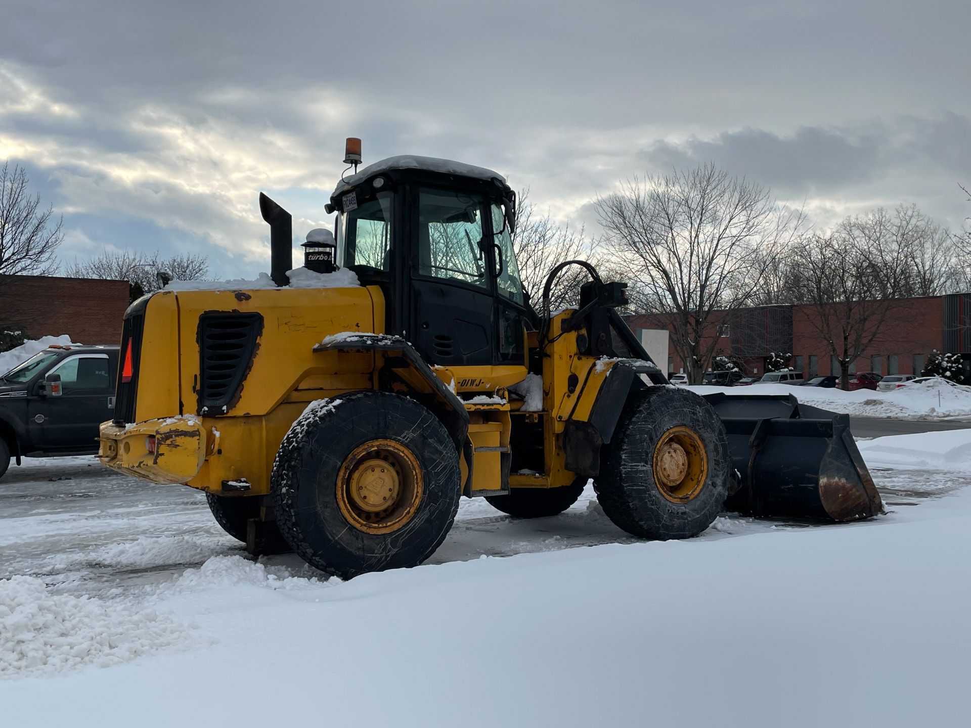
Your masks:
M488 288L483 252L484 199L437 189L419 191L419 274Z

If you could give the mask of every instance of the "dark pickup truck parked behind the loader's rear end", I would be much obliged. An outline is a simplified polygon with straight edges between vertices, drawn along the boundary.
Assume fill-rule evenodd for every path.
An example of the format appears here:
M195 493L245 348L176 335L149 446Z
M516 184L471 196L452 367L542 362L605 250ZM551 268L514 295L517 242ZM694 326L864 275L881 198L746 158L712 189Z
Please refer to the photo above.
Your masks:
M11 458L91 455L115 409L118 347L49 347L0 377L0 477Z

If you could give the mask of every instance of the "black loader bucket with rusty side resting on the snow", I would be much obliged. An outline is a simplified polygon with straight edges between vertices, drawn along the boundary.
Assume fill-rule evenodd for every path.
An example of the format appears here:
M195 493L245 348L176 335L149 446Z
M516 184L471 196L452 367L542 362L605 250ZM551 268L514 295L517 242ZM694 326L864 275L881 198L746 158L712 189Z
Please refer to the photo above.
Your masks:
M829 521L884 512L850 434L850 416L790 394L704 395L724 423L738 489L728 511Z

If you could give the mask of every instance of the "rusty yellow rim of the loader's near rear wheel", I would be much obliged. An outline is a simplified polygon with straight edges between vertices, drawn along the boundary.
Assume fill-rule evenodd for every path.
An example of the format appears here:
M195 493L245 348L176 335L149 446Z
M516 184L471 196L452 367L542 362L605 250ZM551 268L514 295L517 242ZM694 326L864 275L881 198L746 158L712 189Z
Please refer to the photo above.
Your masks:
M393 440L372 440L345 458L337 474L337 505L358 531L397 531L418 511L421 466L410 449Z

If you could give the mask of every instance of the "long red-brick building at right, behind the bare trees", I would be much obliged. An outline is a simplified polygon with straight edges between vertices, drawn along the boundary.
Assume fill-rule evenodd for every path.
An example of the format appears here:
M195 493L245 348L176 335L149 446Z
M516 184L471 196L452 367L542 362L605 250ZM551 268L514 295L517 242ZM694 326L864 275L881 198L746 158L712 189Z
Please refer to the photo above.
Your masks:
M716 312L705 338L718 337L716 354L739 361L749 376L763 374L765 359L773 352L791 353L790 366L806 379L838 375L839 363L818 331L818 317L814 307L800 305ZM628 318L635 333L663 322L656 315ZM896 302L873 344L850 366L850 372L920 374L934 349L964 355L965 367L971 371L971 293ZM674 347L668 349L667 366L669 372L686 371Z

